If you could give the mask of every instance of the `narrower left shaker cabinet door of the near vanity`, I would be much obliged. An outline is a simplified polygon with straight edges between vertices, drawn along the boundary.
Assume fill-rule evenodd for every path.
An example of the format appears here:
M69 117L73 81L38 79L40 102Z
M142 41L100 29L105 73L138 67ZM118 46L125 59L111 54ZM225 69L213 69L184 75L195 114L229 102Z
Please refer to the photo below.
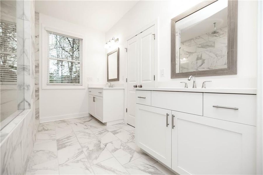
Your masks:
M171 111L136 104L136 144L171 167Z

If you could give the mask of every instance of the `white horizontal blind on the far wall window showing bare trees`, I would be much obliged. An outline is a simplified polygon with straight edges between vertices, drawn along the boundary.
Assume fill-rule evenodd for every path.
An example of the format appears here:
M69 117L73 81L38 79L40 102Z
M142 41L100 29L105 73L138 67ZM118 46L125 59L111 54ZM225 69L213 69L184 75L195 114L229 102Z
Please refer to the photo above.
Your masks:
M82 85L82 39L47 31L47 85Z

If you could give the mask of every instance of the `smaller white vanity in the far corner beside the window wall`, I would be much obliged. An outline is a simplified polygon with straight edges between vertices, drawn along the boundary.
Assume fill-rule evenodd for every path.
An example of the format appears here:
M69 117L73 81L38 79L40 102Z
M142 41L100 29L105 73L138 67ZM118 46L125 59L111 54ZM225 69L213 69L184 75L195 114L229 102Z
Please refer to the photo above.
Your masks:
M123 123L124 88L89 87L89 113L105 125Z

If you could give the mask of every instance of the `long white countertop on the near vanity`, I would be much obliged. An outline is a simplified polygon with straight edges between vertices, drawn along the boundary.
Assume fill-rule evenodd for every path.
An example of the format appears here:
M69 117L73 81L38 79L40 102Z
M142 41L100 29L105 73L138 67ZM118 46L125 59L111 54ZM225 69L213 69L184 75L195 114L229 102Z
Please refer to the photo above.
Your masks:
M257 94L257 89L239 88L134 88L135 90L155 90L155 91L177 91L177 92L207 92L226 94Z

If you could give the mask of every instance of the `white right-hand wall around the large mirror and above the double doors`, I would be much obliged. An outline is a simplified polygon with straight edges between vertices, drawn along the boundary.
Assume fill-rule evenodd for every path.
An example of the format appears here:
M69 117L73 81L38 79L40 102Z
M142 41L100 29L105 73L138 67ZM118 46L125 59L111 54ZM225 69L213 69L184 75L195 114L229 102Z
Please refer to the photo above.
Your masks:
M184 87L180 81L187 78L170 78L170 20L201 2L187 1L139 1L121 20L106 32L106 40L119 38L120 82L126 78L125 43L128 36L154 20L158 20L158 87ZM108 52L109 50L107 50ZM165 69L165 76L160 76ZM256 88L257 87L257 1L238 1L238 61L237 75L196 78L201 87L204 80L208 88ZM124 79L122 77L124 76ZM117 83L117 82L114 82ZM189 87L191 84L188 84Z

